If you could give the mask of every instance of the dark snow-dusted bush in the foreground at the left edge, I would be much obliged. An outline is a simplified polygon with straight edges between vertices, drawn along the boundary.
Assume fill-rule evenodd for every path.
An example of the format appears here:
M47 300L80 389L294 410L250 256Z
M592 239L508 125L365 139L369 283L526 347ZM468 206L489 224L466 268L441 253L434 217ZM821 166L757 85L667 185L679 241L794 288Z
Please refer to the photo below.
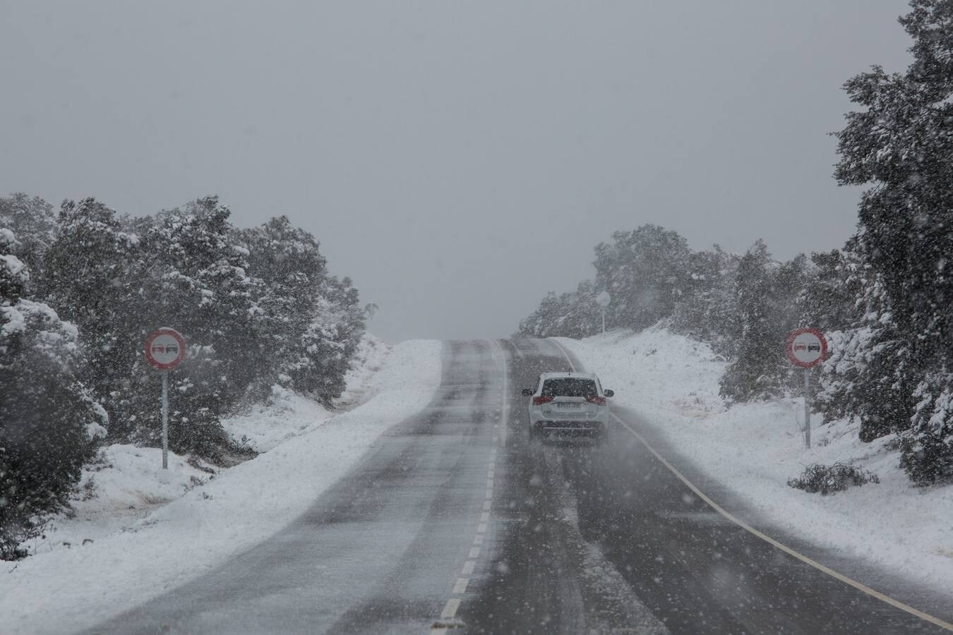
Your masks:
M106 411L75 373L77 330L48 305L24 296L29 271L0 228L0 558L44 514L66 505L80 469L105 434Z

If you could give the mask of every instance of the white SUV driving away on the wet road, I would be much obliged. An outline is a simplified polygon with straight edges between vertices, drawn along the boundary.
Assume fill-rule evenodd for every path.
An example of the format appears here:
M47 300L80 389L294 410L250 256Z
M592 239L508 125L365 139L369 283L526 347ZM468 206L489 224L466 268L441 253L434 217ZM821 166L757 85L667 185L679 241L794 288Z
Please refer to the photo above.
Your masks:
M529 404L530 437L549 434L587 435L604 439L609 429L606 397L595 373L544 372L533 388L523 388L532 397Z

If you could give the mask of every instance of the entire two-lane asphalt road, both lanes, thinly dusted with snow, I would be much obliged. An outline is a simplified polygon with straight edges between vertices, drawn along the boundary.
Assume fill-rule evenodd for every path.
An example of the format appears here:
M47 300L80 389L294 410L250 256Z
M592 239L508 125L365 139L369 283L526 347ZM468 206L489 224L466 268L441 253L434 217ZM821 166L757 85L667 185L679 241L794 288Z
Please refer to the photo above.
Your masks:
M547 340L448 342L431 405L294 523L88 632L947 632L720 514L635 413L604 444L531 441L519 389L574 366Z

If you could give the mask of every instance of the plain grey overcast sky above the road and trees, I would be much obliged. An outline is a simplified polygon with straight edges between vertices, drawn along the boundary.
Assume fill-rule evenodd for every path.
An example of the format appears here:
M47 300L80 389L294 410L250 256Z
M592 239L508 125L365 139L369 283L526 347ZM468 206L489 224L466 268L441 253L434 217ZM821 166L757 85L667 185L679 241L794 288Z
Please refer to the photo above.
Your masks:
M0 0L0 195L287 214L379 336L500 337L615 229L841 247L841 84L902 0Z

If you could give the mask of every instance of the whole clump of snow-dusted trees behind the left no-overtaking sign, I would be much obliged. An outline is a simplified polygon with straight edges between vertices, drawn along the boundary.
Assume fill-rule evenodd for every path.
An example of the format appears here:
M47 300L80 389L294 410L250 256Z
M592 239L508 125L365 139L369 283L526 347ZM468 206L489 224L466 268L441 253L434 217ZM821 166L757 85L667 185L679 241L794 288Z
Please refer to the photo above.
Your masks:
M161 376L142 350L156 327L189 343L170 375L175 451L224 460L220 418L274 384L326 404L344 388L364 311L287 217L238 230L213 196L139 218L89 198L65 202L52 223L49 206L14 195L0 199L0 220L29 238L4 229L9 262L39 263L38 298L79 327L74 372L106 407L111 441L158 443ZM0 284L14 302L29 282Z

